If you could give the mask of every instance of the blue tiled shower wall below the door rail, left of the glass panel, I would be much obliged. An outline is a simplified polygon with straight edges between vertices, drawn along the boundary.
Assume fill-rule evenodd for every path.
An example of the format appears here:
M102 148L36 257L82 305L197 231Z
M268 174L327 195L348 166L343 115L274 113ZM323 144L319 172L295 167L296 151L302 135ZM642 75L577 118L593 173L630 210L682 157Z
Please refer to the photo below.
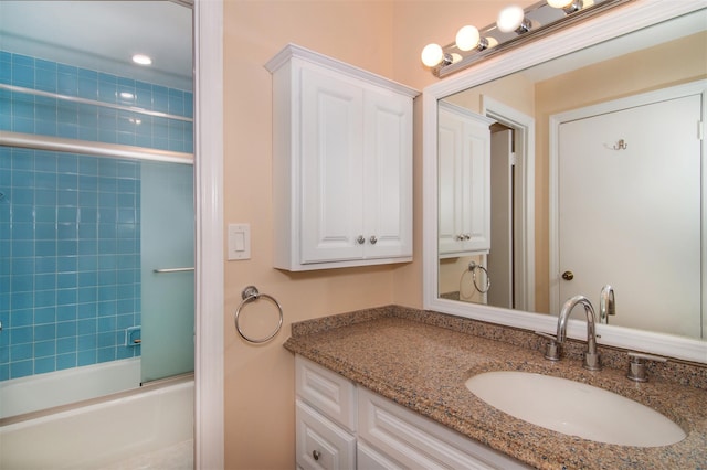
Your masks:
M0 147L0 380L139 354L140 163Z

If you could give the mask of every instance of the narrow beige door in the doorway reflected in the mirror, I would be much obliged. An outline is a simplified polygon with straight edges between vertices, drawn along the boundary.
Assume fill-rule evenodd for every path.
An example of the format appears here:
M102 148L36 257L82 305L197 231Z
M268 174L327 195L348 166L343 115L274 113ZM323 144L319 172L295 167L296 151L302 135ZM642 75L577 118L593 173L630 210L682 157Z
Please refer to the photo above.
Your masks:
M490 135L488 303L513 308L513 131Z

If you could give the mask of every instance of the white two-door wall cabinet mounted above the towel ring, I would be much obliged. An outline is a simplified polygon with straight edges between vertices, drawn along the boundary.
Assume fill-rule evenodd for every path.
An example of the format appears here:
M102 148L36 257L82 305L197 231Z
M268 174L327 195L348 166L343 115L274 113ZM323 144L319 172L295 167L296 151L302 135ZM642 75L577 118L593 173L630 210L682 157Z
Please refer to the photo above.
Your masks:
M412 260L418 92L293 44L266 67L275 267Z

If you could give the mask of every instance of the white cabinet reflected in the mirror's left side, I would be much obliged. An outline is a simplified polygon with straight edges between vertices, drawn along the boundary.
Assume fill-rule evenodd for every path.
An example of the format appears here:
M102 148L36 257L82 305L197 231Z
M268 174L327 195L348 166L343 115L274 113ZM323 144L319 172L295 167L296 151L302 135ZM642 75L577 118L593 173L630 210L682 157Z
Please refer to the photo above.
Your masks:
M490 249L490 130L493 119L440 102L440 257Z

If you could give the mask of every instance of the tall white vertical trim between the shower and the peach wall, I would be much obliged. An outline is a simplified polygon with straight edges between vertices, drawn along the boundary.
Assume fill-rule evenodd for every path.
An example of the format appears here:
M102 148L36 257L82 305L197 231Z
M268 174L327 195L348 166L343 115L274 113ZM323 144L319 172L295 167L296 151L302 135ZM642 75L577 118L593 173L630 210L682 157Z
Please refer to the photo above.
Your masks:
M194 468L224 467L223 0L194 0Z

